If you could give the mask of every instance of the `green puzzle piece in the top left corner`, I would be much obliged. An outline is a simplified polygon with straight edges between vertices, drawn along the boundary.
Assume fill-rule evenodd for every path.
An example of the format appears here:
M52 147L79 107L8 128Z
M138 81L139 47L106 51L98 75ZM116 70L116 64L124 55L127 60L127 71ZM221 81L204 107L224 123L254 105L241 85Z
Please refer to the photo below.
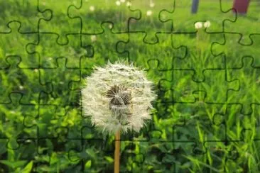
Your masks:
M41 19L50 20L51 18L51 11L49 9L45 11L38 9L38 0L11 0L8 3L1 1L0 6L0 33L9 32L7 31L10 29L9 23L13 21L20 23L21 28L18 28L19 33L37 33L38 21Z

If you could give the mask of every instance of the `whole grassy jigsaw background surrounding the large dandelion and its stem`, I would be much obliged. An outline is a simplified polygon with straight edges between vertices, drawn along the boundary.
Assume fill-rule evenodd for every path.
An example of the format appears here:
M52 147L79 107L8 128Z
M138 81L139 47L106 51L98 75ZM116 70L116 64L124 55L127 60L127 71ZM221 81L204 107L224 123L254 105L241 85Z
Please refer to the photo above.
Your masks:
M114 172L80 92L108 60L158 94L120 172L260 172L260 4L239 3L0 1L0 172Z

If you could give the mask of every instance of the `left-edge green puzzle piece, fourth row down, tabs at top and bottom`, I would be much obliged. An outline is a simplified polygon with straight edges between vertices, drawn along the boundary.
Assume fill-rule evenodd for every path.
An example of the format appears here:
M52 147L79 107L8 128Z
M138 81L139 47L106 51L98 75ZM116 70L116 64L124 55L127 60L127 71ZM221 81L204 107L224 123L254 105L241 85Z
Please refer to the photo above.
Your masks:
M37 128L35 125L23 124L28 116L38 117L38 105L22 102L23 94L13 92L9 94L9 101L0 104L0 137L9 139L9 148L16 150L18 139L36 139ZM15 127L15 128L14 128Z

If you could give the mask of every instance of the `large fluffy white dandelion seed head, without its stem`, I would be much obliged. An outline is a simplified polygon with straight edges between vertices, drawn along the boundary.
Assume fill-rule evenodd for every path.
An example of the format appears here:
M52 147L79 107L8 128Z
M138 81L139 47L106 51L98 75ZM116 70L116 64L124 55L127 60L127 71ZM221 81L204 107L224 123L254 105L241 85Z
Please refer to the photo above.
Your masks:
M143 70L126 62L96 67L82 88L82 107L92 124L103 133L139 130L151 119L153 83Z

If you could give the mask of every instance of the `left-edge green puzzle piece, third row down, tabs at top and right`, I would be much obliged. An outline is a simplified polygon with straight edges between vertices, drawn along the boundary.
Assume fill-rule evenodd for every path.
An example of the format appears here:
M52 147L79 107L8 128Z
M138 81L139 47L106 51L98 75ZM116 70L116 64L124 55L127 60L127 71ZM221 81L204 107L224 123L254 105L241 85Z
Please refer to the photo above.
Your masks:
M40 92L50 89L50 85L43 86L40 82L38 69L19 68L21 57L7 57L6 62L8 67L0 70L0 103L8 102L11 91L19 91L26 103L38 104Z

